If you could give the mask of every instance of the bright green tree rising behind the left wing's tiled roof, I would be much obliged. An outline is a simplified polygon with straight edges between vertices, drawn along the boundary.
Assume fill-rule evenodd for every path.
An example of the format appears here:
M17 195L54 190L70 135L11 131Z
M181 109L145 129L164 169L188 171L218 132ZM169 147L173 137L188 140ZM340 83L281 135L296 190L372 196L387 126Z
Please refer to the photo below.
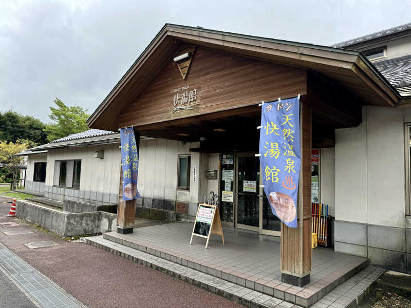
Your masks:
M44 129L49 142L89 129L86 124L90 116L87 113L88 109L77 105L69 107L58 98L53 102L58 108L50 107L51 114L48 117L54 123L47 124Z

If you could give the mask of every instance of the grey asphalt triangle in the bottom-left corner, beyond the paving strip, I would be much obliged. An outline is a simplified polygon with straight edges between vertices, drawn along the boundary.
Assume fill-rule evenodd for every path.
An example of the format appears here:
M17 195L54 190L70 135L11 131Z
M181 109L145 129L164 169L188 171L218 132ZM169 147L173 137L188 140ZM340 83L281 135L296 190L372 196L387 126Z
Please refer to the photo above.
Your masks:
M36 308L36 305L1 271L0 308Z

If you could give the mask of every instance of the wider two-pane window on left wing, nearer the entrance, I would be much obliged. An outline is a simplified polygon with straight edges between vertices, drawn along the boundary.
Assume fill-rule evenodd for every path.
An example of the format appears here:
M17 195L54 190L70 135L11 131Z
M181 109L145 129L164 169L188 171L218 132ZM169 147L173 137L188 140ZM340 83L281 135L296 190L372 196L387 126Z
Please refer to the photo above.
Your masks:
M81 160L54 162L53 185L80 188Z

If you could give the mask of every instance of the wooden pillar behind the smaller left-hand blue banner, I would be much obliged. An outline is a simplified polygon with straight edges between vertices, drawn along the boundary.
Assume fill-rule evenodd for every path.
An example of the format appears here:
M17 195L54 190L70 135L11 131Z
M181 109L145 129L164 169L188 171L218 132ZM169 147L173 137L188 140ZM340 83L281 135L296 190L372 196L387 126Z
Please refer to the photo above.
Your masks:
M137 143L137 153L140 159L140 133L134 131ZM117 207L117 233L133 233L133 227L136 222L136 199L132 201L123 201L123 174L120 171L120 197Z

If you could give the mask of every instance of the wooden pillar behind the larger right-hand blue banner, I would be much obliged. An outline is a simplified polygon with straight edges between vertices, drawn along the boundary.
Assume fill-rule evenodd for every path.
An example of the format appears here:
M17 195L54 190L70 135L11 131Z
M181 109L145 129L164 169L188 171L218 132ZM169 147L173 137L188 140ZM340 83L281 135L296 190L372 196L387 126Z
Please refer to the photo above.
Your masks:
M298 182L297 227L281 223L281 278L303 286L311 273L311 106L300 100L301 170Z

